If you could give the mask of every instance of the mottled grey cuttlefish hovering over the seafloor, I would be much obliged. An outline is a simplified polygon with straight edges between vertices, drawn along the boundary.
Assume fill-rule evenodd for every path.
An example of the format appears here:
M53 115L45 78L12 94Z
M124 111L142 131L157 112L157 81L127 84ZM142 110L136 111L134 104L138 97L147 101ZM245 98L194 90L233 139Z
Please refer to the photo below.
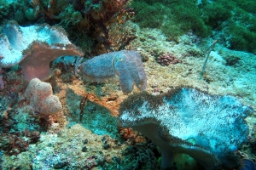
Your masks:
M85 82L117 82L125 94L130 94L133 84L143 91L147 76L143 61L137 51L119 51L102 54L85 61L80 70Z

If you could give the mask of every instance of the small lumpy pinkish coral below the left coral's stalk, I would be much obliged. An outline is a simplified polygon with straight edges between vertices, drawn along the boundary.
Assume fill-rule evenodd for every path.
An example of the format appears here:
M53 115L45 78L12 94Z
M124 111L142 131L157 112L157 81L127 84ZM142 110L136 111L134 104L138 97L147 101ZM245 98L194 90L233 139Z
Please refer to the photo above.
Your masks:
M48 82L41 82L38 78L33 78L29 82L25 97L35 111L41 114L53 115L61 111L61 102L53 95L51 85Z

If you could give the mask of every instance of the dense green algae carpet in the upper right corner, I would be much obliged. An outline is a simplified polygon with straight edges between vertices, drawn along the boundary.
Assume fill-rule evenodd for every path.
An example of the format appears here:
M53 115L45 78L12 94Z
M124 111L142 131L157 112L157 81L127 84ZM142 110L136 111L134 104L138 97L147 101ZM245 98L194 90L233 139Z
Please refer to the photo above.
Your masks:
M255 53L254 1L142 0L133 1L131 6L139 26L159 28L169 39L175 40L190 30L200 37L223 30L226 47Z

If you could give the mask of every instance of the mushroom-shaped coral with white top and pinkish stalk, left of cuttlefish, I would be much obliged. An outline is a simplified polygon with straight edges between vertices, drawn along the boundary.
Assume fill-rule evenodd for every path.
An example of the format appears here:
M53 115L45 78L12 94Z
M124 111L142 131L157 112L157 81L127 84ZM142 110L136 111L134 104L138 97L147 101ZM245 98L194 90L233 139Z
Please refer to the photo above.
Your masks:
M69 42L65 31L56 26L21 27L10 21L3 29L0 42L0 66L20 64L28 81L52 76L49 63L61 55L84 55Z

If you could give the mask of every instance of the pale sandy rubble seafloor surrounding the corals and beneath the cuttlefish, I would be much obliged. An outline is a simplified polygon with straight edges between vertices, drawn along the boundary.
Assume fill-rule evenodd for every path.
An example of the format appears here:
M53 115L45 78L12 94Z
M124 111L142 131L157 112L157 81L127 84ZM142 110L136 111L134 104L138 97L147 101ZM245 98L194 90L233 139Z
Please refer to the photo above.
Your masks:
M214 38L195 42L196 37L193 34L187 34L180 37L178 42L170 42L166 41L166 37L158 30L133 26L137 30L137 39L131 42L131 47L144 58L148 58L143 64L148 77L146 90L149 94L166 93L178 86L189 86L209 94L235 96L243 105L253 108L253 115L247 116L246 121L250 139L253 141L253 138L256 138L256 55L230 50L217 42L200 80L206 50ZM218 32L215 35L218 37ZM174 54L181 62L168 66L158 64L154 54L167 52ZM234 65L226 65L226 59L230 56L236 56L240 60ZM142 161L140 167L136 167L139 154L133 158L127 156L132 153L127 150L132 150L134 147L147 150L150 144L140 142L131 144L120 137L115 117L118 116L119 104L128 95L120 91L119 83L85 83L81 81L80 76L74 76L73 66L68 68L68 72L55 66L53 68L55 74L49 82L54 94L61 100L62 111L50 117L51 127L41 132L36 144L29 144L25 151L16 156L1 152L1 168L150 169L149 164L152 164L150 160ZM46 124L47 122L40 122L38 118L40 116L32 112L28 103L20 101L24 93L24 90L20 89L26 89L27 85L20 72L9 70L3 75L7 77L8 83L0 94L2 117L6 111L11 110L9 119L16 121L15 127L20 131L36 130L37 123L41 123L41 126L42 123ZM18 101L9 107L13 102L8 95L12 88L20 91ZM138 92L137 88L134 92ZM80 99L86 95L88 95L88 104L84 110L83 121L80 122ZM26 140L26 137L20 138ZM141 140L144 141L144 139ZM148 150L153 149L148 148ZM253 155L249 144L244 144L241 151L250 158L256 156ZM145 159L147 157L150 156L145 154Z

